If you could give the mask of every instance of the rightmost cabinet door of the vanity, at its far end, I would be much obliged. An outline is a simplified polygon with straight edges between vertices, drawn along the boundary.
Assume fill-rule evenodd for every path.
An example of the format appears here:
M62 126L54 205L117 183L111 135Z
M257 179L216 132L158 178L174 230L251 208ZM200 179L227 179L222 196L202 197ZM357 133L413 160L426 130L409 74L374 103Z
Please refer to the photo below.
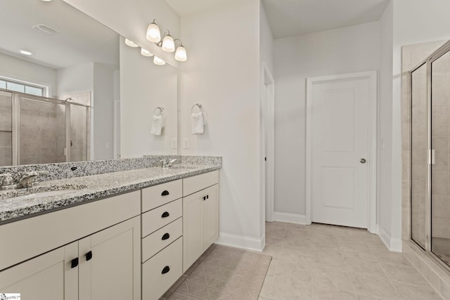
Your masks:
M219 185L203 191L203 252L219 237Z

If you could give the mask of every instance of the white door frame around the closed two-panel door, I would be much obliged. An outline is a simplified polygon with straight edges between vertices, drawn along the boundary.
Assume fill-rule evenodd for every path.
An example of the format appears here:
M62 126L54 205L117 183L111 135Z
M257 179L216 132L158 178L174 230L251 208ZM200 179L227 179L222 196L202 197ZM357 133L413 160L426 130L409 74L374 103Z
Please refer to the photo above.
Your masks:
M377 233L377 71L356 72L348 74L335 74L321 77L307 78L307 111L306 111L306 223L311 224L312 209L312 88L314 84L343 81L349 79L368 79L368 222L370 233Z

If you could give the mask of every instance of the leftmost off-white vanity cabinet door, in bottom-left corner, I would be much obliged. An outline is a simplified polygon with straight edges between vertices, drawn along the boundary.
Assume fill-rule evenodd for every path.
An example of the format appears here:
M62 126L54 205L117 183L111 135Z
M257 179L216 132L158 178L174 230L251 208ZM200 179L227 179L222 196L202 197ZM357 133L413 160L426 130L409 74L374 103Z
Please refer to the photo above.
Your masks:
M78 242L60 247L0 272L0 291L22 299L78 299Z

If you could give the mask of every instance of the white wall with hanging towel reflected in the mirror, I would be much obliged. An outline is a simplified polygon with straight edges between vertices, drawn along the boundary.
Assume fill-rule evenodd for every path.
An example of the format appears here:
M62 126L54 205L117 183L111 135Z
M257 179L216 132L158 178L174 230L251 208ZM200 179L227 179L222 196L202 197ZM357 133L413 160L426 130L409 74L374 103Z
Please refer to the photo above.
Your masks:
M171 141L178 131L178 70L155 65L138 48L120 43L120 155L176 155ZM153 110L164 107L165 127L150 134Z

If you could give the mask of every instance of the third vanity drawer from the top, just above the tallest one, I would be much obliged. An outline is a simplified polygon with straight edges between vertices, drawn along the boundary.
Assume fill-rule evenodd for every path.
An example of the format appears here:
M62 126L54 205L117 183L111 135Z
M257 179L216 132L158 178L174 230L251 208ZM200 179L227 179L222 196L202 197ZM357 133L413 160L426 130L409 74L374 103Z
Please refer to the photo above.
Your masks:
M176 219L142 239L142 262L150 259L177 238L183 235L183 218Z

